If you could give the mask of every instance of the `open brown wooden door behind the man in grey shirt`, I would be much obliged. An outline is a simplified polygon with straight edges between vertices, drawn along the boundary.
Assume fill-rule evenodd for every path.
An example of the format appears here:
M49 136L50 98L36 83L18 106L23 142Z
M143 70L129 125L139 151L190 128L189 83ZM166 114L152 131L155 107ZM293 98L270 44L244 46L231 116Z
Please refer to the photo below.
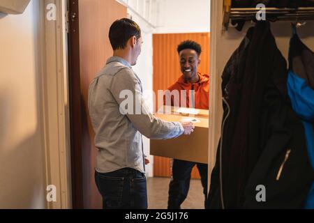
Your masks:
M73 208L102 208L94 181L96 148L89 120L89 84L112 56L110 25L127 16L115 0L69 0L69 89Z

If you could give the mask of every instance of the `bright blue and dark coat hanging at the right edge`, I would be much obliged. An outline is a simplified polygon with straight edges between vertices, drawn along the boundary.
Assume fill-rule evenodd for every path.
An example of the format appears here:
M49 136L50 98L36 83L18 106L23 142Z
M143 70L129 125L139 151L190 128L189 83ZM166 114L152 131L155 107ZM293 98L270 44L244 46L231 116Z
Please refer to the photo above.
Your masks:
M314 53L301 42L295 26L293 31L287 89L292 107L303 122L308 157L314 169ZM314 183L308 193L305 208L314 208Z

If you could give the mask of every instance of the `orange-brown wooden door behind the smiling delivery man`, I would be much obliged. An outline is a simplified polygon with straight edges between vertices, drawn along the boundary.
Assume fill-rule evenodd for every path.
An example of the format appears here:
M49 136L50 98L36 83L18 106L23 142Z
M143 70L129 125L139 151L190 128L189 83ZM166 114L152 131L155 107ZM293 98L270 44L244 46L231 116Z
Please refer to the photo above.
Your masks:
M153 87L157 95L158 90L166 90L177 82L181 76L177 46L184 40L193 40L202 46L203 53L198 72L209 74L209 33L161 33L153 34ZM160 64L162 66L160 66ZM160 105L156 105L160 107ZM154 156L154 176L171 177L171 159ZM200 179L196 167L193 168L192 179Z

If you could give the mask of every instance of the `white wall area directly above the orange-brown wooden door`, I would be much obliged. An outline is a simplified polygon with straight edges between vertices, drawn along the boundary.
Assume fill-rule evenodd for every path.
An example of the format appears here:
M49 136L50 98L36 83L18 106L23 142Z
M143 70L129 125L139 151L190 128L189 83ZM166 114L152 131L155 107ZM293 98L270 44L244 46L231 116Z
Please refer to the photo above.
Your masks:
M210 0L158 0L154 33L197 33L210 31Z

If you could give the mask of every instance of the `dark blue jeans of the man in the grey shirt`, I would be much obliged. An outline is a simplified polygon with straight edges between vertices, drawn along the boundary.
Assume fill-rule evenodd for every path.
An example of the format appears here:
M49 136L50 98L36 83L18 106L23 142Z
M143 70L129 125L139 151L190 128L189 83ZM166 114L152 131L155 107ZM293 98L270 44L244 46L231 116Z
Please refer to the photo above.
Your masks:
M147 180L131 168L100 174L95 173L103 209L147 209Z

